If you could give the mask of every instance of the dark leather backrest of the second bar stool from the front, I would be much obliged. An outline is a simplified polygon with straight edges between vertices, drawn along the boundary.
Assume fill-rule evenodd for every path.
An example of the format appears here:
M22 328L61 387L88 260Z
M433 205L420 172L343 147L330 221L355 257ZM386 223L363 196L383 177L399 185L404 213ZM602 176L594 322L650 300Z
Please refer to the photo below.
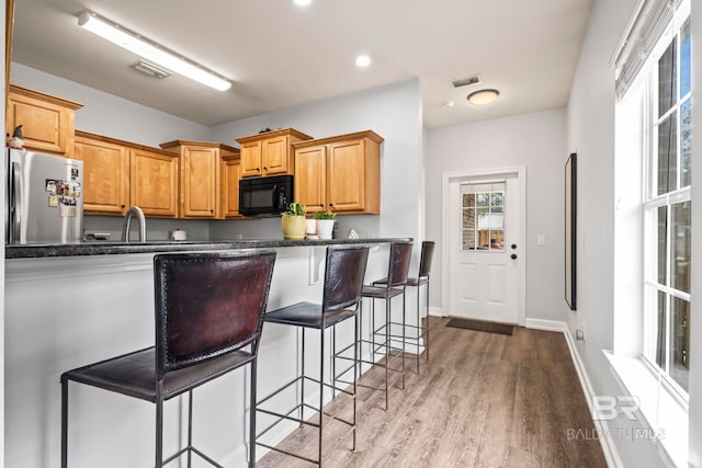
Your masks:
M327 248L322 312L341 310L361 300L367 260L367 246Z

